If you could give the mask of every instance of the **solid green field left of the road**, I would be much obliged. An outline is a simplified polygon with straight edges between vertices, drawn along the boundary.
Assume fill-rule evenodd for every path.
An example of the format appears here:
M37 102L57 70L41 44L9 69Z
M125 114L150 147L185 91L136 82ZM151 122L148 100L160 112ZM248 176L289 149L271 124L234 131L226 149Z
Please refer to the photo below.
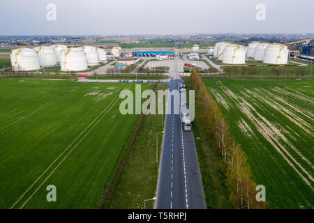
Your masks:
M135 84L1 79L0 208L97 208L137 121L119 112L127 88Z

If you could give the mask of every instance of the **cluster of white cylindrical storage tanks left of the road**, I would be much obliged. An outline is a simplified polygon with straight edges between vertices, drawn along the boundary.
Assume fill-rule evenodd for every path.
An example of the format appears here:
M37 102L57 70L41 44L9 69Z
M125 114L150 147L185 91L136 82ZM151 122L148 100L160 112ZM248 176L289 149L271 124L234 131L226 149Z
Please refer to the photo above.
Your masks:
M74 48L66 45L13 49L10 58L15 71L52 66L60 66L62 71L81 71L107 61L105 49L91 46Z

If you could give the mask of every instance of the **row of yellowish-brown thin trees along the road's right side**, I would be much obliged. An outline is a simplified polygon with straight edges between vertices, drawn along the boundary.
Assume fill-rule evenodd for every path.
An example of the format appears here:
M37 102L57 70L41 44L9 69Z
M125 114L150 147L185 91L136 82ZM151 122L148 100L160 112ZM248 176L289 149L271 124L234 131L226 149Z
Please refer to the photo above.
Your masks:
M225 162L230 200L239 208L264 208L266 203L257 202L255 199L256 184L251 179L251 169L248 166L246 154L241 146L235 144L234 139L230 137L229 127L218 104L194 69L191 72L190 82L195 89L196 100L202 107L202 123L207 126L209 139L212 140Z

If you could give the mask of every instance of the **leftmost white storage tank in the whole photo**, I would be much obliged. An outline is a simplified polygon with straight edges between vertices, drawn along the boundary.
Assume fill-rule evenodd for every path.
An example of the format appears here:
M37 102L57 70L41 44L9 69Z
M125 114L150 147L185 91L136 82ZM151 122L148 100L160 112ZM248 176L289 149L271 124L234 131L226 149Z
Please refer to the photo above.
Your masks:
M38 70L39 57L35 49L20 48L13 49L11 54L12 69L15 71Z

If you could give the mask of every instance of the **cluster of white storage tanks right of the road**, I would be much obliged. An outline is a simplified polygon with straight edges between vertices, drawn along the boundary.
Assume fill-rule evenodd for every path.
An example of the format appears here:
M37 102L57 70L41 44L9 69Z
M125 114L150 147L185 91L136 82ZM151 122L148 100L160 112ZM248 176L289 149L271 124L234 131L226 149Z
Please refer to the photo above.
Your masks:
M269 64L286 64L289 56L287 46L280 43L253 42L244 47L232 43L216 43L214 57L228 64L244 64L246 58Z

